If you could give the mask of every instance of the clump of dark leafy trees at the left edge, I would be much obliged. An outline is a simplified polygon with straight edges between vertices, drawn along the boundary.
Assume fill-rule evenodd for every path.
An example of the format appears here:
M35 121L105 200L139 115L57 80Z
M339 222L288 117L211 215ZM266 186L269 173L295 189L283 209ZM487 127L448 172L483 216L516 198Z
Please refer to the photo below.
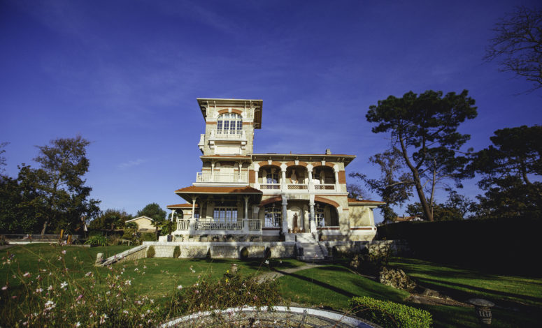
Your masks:
M0 183L0 228L11 233L45 234L64 229L76 232L83 220L99 213L99 201L83 176L89 161L83 137L59 138L38 147L34 161L41 166L20 165L17 178Z

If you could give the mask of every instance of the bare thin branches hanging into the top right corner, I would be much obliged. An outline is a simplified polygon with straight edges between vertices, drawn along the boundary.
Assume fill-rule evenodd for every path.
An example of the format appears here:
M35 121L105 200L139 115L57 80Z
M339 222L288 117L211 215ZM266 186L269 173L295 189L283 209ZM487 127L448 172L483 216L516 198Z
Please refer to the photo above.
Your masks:
M518 6L495 24L484 59L542 87L542 10Z

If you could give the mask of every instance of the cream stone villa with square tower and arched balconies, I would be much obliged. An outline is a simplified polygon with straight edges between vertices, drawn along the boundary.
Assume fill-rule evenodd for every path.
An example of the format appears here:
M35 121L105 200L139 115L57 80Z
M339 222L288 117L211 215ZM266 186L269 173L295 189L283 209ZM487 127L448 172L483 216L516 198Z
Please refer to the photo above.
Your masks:
M176 236L245 235L246 240L368 241L373 209L384 202L348 198L345 167L356 156L254 154L262 100L197 99L205 120L201 172L169 205ZM306 133L318 133L306 128ZM137 220L134 219L134 220ZM304 235L303 235L304 234ZM250 238L249 238L250 237ZM186 239L185 239L186 240Z

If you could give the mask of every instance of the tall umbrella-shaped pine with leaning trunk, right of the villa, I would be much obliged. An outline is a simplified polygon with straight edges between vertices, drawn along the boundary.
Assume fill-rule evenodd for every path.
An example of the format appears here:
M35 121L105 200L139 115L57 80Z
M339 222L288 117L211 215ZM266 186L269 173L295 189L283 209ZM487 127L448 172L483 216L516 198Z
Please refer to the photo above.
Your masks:
M476 117L475 101L468 91L461 94L412 91L402 98L389 96L371 105L366 119L378 125L373 133L390 133L392 146L399 149L409 179L415 188L425 217L433 221L432 202L438 183L455 181L461 186L462 168L467 162L459 149L469 135L457 132L459 124ZM427 201L426 186L429 188Z

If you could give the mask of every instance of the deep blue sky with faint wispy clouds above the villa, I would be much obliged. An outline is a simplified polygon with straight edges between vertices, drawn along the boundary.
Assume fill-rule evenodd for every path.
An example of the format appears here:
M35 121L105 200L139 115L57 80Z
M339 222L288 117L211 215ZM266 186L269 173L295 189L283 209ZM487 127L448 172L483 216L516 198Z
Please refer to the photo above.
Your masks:
M476 99L460 128L481 149L541 124L542 91L482 60L504 13L536 1L1 1L0 142L6 171L35 145L83 135L101 208L182 202L201 169L196 98L264 100L255 152L357 156L378 176L369 105L428 89ZM467 181L459 193L480 193ZM440 195L439 201L444 201Z

